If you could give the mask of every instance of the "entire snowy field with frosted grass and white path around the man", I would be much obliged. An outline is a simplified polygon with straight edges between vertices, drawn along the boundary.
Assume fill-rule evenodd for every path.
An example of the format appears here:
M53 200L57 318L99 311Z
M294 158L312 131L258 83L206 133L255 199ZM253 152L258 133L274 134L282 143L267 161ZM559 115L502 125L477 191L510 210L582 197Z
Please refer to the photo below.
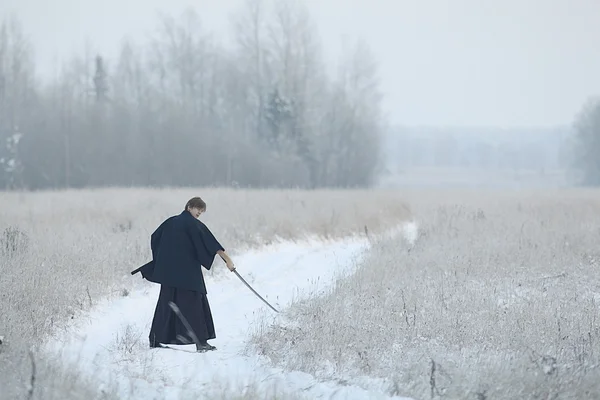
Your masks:
M280 314L217 260L218 350L149 349L158 287L129 271L196 193L15 195L0 223L30 242L0 259L0 387L20 391L0 394L598 398L598 191L207 193L205 220Z

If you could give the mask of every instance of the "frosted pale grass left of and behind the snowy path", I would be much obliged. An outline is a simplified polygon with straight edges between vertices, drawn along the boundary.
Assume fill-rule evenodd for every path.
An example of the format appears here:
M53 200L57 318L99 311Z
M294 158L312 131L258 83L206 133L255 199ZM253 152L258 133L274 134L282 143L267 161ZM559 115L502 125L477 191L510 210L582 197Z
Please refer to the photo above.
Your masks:
M233 255L276 240L327 238L387 229L406 219L392 191L104 189L0 193L0 398L27 398L29 350L101 298L142 283L129 272L150 259L150 234L192 196L202 219ZM225 271L217 259L215 270ZM243 269L243 266L239 266ZM139 333L138 333L139 334ZM125 332L125 354L135 338ZM145 336L145 334L144 334ZM129 344L128 344L129 343ZM35 359L35 358L34 358ZM31 398L111 398L37 360ZM69 376L68 379L65 376ZM251 396L251 391L248 396ZM229 398L229 397L228 397ZM246 397L251 398L251 397Z

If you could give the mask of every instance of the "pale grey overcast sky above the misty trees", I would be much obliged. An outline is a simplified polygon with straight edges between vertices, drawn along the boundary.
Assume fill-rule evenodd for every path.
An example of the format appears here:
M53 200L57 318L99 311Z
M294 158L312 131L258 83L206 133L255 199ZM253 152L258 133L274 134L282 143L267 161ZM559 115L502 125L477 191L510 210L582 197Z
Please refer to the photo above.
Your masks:
M243 0L1 0L32 40L39 72L144 38L157 12L195 8L224 40ZM570 125L600 96L598 0L305 0L329 62L345 39L374 52L392 124L494 128ZM333 64L332 64L333 65Z

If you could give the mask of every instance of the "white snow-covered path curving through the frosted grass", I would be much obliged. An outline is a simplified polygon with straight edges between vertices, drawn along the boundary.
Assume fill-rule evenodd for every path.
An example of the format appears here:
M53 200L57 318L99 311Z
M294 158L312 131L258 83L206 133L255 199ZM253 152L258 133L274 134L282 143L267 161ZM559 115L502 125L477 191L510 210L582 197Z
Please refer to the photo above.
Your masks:
M414 241L416 226L403 230L407 239ZM91 374L101 387L110 390L118 386L119 397L124 399L181 399L211 391L219 395L226 386L240 394L247 385L255 385L254 389L259 385L259 390L270 392L273 383L288 393L309 398L393 398L378 390L375 380L369 392L357 386L317 382L308 374L272 368L258 355L244 352L254 329L263 322L277 323L295 298L318 295L336 275L350 272L368 246L366 240L358 238L284 243L233 258L241 276L280 314L269 309L233 273L205 274L217 333L210 343L216 351L195 353L194 345L172 346L177 350L148 347L159 290L152 283L144 291L98 305L47 349L59 352L62 362L77 363L77 368ZM226 269L218 257L213 268Z

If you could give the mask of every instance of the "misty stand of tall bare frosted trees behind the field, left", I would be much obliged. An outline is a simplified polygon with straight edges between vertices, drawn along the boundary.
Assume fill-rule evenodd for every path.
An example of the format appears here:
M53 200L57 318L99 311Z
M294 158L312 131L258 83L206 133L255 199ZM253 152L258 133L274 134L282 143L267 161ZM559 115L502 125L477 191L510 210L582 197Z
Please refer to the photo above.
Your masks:
M18 20L0 26L0 188L365 187L381 168L377 65L358 42L327 72L307 10L248 1L219 44L199 16L146 43L75 55L37 78Z

